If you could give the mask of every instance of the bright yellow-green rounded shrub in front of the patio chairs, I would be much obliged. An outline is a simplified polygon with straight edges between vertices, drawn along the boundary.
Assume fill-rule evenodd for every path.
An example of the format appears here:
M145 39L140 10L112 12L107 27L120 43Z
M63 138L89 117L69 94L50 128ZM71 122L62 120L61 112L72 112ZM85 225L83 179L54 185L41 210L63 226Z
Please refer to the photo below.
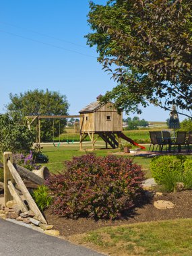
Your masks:
M192 188L192 160L185 156L157 156L150 163L152 177L156 183L173 191L177 183L183 182L185 189Z

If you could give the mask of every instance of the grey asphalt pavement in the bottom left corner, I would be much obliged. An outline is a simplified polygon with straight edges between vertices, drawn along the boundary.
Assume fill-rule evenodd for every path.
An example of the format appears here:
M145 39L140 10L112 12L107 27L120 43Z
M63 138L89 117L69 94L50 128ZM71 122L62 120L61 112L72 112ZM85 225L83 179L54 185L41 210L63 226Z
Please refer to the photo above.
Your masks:
M2 256L102 256L86 247L0 219Z

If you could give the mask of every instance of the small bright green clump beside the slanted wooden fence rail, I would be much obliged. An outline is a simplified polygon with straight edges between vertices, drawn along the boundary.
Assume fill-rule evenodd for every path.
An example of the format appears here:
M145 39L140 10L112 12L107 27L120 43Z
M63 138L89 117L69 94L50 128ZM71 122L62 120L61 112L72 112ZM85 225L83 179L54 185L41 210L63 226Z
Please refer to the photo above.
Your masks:
M49 194L48 187L45 185L41 185L35 189L32 193L32 197L41 211L51 205L52 197Z

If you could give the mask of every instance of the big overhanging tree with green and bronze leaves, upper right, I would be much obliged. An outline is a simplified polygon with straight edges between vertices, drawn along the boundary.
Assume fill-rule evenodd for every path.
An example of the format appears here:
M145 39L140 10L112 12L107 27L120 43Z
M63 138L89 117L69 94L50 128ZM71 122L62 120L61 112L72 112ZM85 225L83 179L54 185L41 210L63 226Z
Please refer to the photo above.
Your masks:
M150 103L191 110L191 13L191 0L90 2L88 44L117 82L103 100L127 113Z

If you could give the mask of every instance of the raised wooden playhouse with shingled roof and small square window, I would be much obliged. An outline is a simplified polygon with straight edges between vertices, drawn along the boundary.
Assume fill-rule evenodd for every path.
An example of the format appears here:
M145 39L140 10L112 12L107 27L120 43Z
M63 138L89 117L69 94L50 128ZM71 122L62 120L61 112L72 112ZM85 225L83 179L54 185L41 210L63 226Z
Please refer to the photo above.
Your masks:
M88 104L79 111L80 115L80 150L82 150L82 143L84 139L89 136L92 141L92 149L98 137L101 137L105 143L106 148L110 145L112 148L119 147L121 143L122 114L117 113L112 102L101 103L100 96L97 97L96 102Z

